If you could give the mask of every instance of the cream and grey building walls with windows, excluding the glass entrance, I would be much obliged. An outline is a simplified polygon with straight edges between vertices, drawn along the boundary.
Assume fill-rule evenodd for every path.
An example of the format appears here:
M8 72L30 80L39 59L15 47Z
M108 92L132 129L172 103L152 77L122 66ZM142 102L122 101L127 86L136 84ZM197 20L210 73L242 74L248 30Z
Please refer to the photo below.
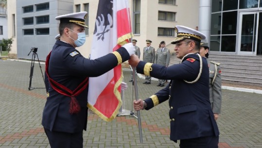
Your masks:
M98 1L8 0L8 26L12 26L8 29L8 36L14 39L11 53L17 52L17 58L31 59L27 54L32 47L36 47L39 59L45 60L58 34L59 21L54 19L55 16L87 11L87 40L78 50L88 57ZM145 40L150 39L153 41L152 47L157 49L164 40L167 46L171 46L168 48L174 49L169 44L175 37L175 25L198 26L198 5L198 0L129 0L133 38L138 40L137 45L143 48L146 46ZM190 11L184 11L184 8Z

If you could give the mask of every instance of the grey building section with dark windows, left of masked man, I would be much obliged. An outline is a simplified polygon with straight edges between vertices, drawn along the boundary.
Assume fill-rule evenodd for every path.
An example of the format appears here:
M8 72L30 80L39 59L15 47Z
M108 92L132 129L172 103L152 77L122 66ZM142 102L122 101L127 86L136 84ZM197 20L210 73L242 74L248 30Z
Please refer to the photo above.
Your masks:
M31 59L28 53L37 48L39 60L44 61L58 34L59 21L55 17L72 13L73 1L14 0L13 3L16 11L10 12L8 22L14 27L9 29L12 32L9 35L16 38L17 58Z

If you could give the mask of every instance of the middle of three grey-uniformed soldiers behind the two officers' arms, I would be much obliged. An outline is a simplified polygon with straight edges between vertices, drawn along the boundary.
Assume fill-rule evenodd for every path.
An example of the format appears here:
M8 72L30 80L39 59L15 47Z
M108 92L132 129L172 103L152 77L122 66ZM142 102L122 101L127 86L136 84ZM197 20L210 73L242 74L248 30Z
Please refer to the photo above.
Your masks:
M143 49L143 61L146 63L154 63L155 62L155 48L151 47L152 41L146 40L146 47ZM145 82L143 84L151 84L151 77L145 76Z

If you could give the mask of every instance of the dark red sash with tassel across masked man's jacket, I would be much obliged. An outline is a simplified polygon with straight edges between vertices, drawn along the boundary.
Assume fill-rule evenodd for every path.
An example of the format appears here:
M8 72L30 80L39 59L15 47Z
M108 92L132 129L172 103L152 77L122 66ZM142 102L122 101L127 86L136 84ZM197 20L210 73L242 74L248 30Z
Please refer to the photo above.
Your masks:
M46 58L46 74L47 77L49 79L50 85L52 86L52 88L57 91L59 94L68 96L71 98L70 100L70 114L76 114L80 112L80 105L78 104L75 96L78 96L83 90L85 90L87 88L88 85L88 77L81 82L73 91L71 91L69 88L67 88L66 86L55 82L54 80L52 80L52 78L50 78L49 73L48 73L48 66L49 66L49 60L50 60L50 56L51 56L51 52L48 54L47 58Z

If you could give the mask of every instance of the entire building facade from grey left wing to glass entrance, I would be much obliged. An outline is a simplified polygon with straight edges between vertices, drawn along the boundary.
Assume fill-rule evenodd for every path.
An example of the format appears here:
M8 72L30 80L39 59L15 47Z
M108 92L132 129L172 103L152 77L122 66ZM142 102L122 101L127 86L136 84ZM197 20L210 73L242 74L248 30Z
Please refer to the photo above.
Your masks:
M198 27L207 35L210 53L229 55L262 55L262 0L128 0L134 39L142 49L150 39L158 48L165 41L174 52L171 41L175 25ZM90 54L99 0L8 0L8 38L13 37L11 53L30 59L27 53L38 48L39 59L52 49L59 21L55 16L87 11L87 41L78 50ZM5 29L3 29L3 32ZM142 57L142 56L141 56Z

